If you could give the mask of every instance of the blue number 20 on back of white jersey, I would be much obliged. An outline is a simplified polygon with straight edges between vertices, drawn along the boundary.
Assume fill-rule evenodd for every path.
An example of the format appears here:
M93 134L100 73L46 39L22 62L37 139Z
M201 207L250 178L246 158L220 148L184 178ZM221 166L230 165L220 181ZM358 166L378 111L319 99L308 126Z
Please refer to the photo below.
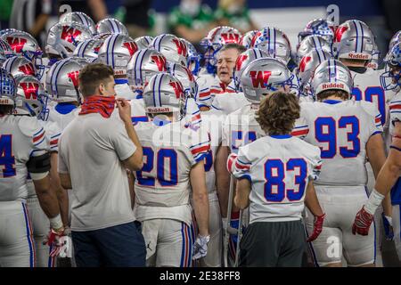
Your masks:
M156 179L161 186L174 186L178 182L178 158L175 150L160 149L155 156L154 151L149 147L143 147L143 157L145 162L141 171L136 171L138 184L143 186L154 186ZM156 178L143 173L151 173L154 166ZM168 166L168 167L166 167Z

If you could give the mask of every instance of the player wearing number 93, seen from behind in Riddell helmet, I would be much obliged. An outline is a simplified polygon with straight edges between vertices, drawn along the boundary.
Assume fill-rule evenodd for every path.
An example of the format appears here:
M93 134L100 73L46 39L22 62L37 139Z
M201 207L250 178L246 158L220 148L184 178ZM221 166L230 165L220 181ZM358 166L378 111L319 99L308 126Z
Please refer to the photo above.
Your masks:
M322 173L315 190L327 218L323 232L311 244L313 256L319 266L341 266L341 256L348 266L374 266L373 229L367 236L355 236L351 225L368 199L366 157L375 175L385 160L381 114L372 102L349 100L352 76L340 61L323 61L311 85L318 102L301 103L292 134L322 151ZM314 219L307 214L310 232Z

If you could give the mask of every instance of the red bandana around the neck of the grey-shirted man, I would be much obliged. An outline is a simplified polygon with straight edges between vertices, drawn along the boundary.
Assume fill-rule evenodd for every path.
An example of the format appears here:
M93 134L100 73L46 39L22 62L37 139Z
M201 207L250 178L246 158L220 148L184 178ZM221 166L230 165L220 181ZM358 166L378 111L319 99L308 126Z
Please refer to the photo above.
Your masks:
M82 103L79 115L99 113L103 118L110 118L115 104L114 96L89 96Z

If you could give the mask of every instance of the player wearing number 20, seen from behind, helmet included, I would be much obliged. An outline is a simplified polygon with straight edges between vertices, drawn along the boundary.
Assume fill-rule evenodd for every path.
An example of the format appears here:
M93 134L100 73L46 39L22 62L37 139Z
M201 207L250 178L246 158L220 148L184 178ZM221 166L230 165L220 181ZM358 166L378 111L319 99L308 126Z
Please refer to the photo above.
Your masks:
M183 85L168 73L151 77L143 90L150 122L135 126L143 168L135 172L135 217L143 223L150 266L187 267L206 256L209 200L204 158L209 135L183 117ZM199 235L195 240L192 206ZM193 252L192 252L193 245Z

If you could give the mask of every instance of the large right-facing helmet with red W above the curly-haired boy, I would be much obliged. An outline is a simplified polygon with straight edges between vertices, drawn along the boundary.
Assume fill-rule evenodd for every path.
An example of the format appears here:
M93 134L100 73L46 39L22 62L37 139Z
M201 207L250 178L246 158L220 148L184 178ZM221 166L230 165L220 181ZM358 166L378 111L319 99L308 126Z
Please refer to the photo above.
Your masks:
M287 66L273 58L251 61L241 74L242 91L248 101L259 103L266 94L291 88L294 75Z

